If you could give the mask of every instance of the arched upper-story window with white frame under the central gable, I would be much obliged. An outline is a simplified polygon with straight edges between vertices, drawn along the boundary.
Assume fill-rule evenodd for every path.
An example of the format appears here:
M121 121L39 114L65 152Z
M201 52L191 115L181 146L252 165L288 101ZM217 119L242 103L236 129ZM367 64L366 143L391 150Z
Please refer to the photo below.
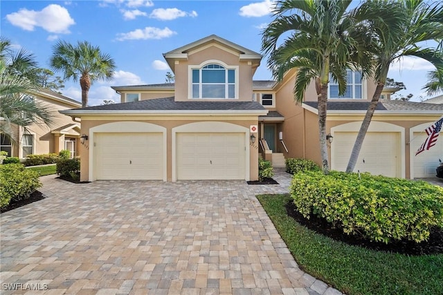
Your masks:
M235 69L219 64L192 68L192 98L235 99Z

